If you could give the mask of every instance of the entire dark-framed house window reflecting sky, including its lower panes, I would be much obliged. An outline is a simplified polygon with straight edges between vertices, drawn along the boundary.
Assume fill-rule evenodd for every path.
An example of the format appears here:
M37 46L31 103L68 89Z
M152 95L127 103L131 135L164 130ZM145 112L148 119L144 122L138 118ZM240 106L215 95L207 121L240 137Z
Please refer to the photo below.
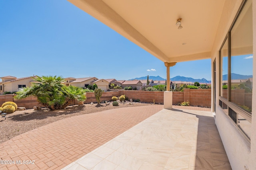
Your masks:
M219 105L250 141L252 121L252 0L245 0L220 48Z

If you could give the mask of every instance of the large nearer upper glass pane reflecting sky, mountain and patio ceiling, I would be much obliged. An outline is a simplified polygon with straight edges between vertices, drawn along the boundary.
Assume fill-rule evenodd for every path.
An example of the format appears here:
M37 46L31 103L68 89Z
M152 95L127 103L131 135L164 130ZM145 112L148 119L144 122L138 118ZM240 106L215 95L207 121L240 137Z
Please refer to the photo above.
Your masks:
M248 0L231 30L230 101L252 111L252 0Z

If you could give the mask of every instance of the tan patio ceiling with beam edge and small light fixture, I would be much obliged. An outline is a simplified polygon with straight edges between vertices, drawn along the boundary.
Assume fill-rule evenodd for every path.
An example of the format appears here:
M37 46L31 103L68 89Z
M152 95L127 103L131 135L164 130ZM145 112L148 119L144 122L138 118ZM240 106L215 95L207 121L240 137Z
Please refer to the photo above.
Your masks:
M163 62L210 59L225 0L68 0ZM182 18L182 29L176 20Z

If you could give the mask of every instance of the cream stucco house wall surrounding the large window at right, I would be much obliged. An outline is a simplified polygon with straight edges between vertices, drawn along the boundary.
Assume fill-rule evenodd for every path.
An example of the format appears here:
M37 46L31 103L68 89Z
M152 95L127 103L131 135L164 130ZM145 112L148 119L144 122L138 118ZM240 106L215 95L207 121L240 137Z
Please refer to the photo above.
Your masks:
M218 128L222 143L226 150L230 165L233 170L245 169L255 169L256 167L256 92L252 92L252 125L251 125L251 138L250 143L242 135L242 133L237 129L232 120L222 108L218 105L219 103L219 75L220 75L220 60L219 60L219 50L228 33L232 21L234 20L236 13L239 10L242 0L226 0L224 4L224 9L222 13L222 19L218 25L218 33L216 34L216 39L214 42L212 50L212 68L213 62L216 60L216 70L212 70L212 77L214 71L216 71L216 110L215 110L215 123ZM252 1L252 11L253 11L253 77L256 76L256 1ZM212 79L212 82L214 80ZM256 83L255 78L253 83ZM233 92L234 93L234 90ZM245 96L244 98L250 98L250 96ZM239 100L239 99L238 99ZM246 99L245 99L246 100ZM244 101L245 101L244 100ZM212 106L214 105L214 88L212 88ZM212 111L213 107L212 107Z

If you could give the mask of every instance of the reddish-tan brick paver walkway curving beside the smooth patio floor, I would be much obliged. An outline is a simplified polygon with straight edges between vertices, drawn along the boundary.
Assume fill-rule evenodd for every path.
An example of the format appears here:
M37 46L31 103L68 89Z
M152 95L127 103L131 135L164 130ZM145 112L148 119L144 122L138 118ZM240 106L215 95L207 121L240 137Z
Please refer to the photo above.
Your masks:
M0 164L0 169L61 169L162 109L163 105L122 107L44 125L2 143L0 160L14 164ZM19 160L34 164L17 164Z

